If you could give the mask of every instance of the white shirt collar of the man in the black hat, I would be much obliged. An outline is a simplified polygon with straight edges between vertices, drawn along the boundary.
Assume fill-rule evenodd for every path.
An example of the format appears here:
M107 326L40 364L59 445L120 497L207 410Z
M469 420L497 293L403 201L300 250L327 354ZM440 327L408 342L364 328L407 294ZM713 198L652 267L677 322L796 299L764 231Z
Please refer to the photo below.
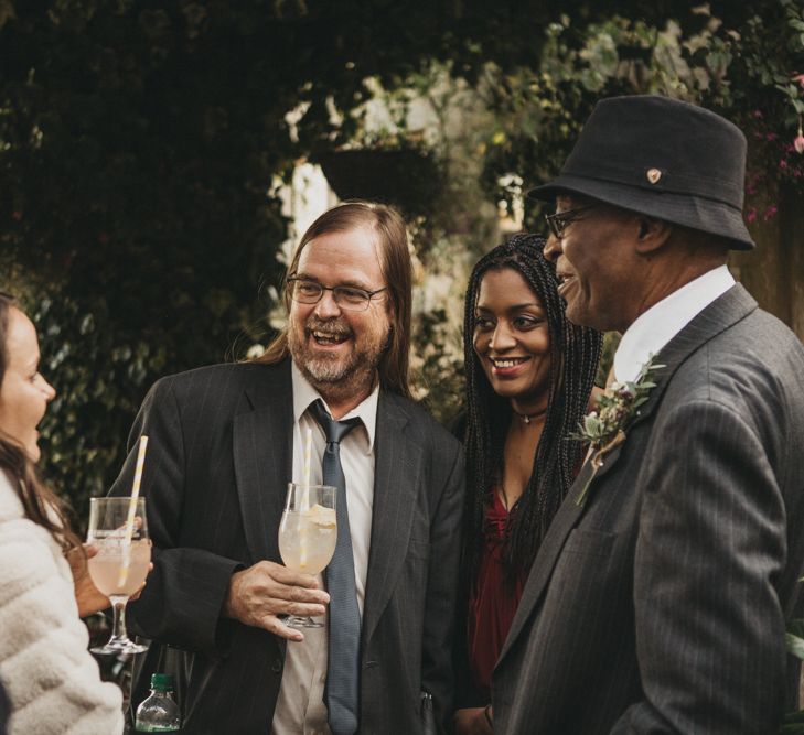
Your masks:
M635 380L651 355L656 355L712 301L726 293L735 279L718 266L654 304L625 331L614 354L614 378Z

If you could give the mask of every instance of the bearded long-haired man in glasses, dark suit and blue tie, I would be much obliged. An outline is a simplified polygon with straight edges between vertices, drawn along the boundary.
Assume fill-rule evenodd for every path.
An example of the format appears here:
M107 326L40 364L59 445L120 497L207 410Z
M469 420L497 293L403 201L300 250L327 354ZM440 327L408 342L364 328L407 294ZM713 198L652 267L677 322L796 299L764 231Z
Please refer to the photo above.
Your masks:
M154 543L129 608L153 641L132 709L159 671L176 679L183 733L421 732L449 711L463 457L409 400L405 225L342 204L307 230L286 280L289 324L262 358L160 380L131 432L132 448L150 437ZM277 536L288 482L321 482L335 456L324 592L281 564ZM114 494L130 491L133 464ZM324 628L285 624L325 612Z

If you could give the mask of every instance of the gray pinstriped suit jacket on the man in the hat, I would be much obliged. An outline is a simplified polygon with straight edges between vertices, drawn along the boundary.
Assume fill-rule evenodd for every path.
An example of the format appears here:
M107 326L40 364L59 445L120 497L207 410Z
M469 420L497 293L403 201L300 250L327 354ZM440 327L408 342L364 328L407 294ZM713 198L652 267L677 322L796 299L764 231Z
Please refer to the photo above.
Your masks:
M536 558L494 672L497 733L778 731L804 349L736 285L656 361L626 441L580 508L585 465Z

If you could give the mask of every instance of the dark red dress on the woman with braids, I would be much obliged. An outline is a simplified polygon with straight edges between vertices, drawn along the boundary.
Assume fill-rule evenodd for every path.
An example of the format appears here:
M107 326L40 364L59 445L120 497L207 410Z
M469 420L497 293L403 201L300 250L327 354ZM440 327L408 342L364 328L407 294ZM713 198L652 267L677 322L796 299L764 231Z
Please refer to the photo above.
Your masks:
M503 549L508 511L496 491L486 509L485 539L476 584L469 599L469 662L472 682L491 701L491 674L500 657L516 607L522 597L525 579L519 575L514 585L506 583L503 571Z

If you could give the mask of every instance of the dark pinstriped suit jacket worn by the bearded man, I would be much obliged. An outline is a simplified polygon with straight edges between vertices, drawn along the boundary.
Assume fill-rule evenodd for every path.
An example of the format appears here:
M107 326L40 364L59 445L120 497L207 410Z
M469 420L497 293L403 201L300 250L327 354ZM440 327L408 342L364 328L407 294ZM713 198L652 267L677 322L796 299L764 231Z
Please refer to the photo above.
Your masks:
M158 381L131 432L112 494L131 490L149 435L142 494L154 570L129 606L153 644L133 706L153 671L173 673L184 733L269 732L285 641L221 619L229 577L267 559L291 478L290 363L221 365ZM463 495L460 444L410 401L380 392L372 543L362 630L361 733L416 733L420 691L450 709L451 620Z

